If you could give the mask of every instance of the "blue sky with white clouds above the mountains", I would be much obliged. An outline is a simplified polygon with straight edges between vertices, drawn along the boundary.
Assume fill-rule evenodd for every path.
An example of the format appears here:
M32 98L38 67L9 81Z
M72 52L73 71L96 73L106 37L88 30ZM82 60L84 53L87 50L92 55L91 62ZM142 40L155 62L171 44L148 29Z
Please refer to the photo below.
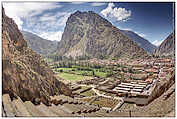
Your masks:
M173 30L173 3L127 2L4 2L7 16L19 29L48 40L61 39L75 11L94 11L119 29L131 30L159 45Z

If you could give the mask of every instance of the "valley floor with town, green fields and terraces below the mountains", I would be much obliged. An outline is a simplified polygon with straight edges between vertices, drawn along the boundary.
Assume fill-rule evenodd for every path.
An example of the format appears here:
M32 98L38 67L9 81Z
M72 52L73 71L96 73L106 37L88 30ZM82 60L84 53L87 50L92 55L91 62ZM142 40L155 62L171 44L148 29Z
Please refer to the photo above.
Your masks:
M48 62L48 64L59 78L58 80L70 88L73 97L50 96L50 106L42 103L30 104L34 108L34 112L31 113L33 116L47 114L52 117L64 115L72 117L159 117L175 111L173 58L90 59L72 61L72 63L71 61ZM5 96L7 98L7 95L3 97ZM14 105L20 100L20 98L13 99L9 103ZM20 101L19 103L22 103L27 112L30 112L29 102L23 104L23 101ZM162 107L162 104L168 105L168 108ZM4 110L8 114L9 111L6 108L5 105ZM21 109L17 107L16 110ZM44 110L47 112L44 113ZM24 114L24 110L22 112ZM31 114L24 114L24 116ZM22 116L18 113L16 115Z

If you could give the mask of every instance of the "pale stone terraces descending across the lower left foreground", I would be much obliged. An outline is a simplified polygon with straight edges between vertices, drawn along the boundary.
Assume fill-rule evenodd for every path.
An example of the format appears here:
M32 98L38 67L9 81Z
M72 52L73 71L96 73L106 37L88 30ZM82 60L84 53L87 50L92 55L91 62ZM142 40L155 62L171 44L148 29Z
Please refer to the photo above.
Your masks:
M68 96L52 97L58 104L46 106L34 105L31 101L23 102L19 97L11 100L8 94L2 96L3 117L95 117L105 116L106 110L86 104Z

